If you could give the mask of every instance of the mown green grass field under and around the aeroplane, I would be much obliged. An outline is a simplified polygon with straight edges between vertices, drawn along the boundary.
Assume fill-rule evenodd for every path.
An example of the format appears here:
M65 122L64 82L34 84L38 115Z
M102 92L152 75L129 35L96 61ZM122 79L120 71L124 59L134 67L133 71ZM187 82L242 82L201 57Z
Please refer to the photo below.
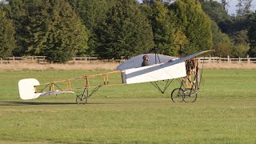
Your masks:
M18 80L51 82L106 71L0 72L0 143L256 143L256 70L205 70L194 103L173 103L150 83L22 101ZM77 91L81 93L81 91Z

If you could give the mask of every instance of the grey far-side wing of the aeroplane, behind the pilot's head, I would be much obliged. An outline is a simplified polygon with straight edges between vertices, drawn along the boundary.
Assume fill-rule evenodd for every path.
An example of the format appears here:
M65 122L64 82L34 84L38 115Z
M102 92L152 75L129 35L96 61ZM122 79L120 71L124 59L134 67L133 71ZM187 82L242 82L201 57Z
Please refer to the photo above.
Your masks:
M127 70L127 69L141 67L144 55L145 54L141 54L141 55L138 55L136 57L128 59L126 62L123 62L122 64L120 64L117 67L117 70ZM149 61L150 65L154 65L156 63L164 63L164 62L170 61L171 59L176 59L176 57L171 57L171 56L162 55L162 54L158 54L158 55L156 55L156 54L147 54L147 55L150 58L150 61ZM158 58L160 59L160 62L159 62Z

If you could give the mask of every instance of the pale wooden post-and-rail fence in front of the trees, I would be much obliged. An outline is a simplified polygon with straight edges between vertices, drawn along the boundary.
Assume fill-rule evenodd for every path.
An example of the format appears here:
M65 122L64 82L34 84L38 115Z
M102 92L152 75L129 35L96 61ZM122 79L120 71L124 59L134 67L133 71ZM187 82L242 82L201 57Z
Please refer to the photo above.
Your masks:
M97 57L76 57L68 63L102 63L102 62L125 62L126 59L99 59ZM221 57L202 57L198 58L199 62L206 63L256 63L256 58L221 58ZM26 57L9 57L0 58L0 64L7 63L49 63L45 56L26 56Z

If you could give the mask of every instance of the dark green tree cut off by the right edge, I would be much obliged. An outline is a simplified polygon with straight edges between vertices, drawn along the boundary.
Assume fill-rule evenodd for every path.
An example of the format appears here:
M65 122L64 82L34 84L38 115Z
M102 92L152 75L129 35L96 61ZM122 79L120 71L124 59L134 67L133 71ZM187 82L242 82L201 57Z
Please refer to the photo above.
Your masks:
M256 11L250 18L250 28L248 30L248 38L250 42L250 57L256 58Z

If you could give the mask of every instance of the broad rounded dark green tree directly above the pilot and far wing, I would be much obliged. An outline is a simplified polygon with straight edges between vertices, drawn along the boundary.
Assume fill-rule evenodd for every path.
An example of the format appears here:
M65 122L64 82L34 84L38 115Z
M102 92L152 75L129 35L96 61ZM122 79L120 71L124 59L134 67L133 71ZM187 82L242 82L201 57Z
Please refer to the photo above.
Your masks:
M149 52L154 46L150 24L134 0L118 1L96 35L96 52L101 58L129 58Z

